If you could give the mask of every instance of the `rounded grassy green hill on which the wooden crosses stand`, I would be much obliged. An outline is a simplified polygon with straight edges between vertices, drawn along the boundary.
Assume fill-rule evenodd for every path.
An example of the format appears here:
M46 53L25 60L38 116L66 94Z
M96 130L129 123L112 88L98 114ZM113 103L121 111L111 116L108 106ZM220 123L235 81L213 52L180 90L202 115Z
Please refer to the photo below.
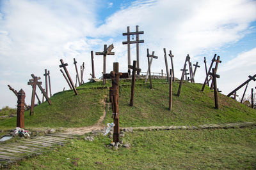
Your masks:
M179 82L173 83L173 109L168 110L168 83L153 80L153 90L144 80L136 81L134 106L129 106L131 80L120 81L120 126L138 127L152 125L199 125L225 122L255 122L256 110L240 104L230 97L219 94L219 110L214 108L213 90L202 84L185 82L180 97L177 97ZM47 102L35 107L34 115L25 112L25 127L84 127L99 120L109 103L111 81L105 88L102 82L84 83L77 88L78 96L72 90L58 92ZM106 103L104 104L104 101ZM113 122L111 108L107 109L104 124ZM0 123L0 129L14 128L16 118Z

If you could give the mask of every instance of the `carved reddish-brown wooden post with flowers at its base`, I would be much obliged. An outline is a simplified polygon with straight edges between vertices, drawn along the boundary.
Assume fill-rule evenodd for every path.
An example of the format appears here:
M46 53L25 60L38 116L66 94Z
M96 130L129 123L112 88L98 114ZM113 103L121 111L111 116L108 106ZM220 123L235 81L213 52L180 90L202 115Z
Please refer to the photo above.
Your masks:
M25 111L25 92L20 89L17 93L18 101L17 101L17 127L24 129L24 111Z

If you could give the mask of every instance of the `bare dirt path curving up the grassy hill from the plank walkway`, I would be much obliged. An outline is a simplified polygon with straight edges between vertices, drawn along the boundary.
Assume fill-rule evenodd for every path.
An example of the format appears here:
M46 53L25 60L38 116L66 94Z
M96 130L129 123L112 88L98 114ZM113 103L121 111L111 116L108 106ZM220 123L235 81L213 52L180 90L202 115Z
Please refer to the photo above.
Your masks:
M102 122L103 122L104 118L106 117L107 110L110 107L110 104L106 103L106 97L107 96L104 96L104 98L100 101L100 103L102 103L103 106L104 106L104 111L103 111L103 115L100 117L97 124L86 126L86 127L68 128L63 133L67 133L67 134L85 134L85 133L88 133L88 132L92 132L93 130L103 129L105 126L102 125Z

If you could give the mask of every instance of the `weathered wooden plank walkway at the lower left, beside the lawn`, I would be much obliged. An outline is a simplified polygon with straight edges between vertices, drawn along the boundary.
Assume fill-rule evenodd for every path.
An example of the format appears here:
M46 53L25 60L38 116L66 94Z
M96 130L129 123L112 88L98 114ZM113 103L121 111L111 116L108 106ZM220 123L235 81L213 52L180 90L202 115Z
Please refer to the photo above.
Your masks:
M0 168L8 164L26 159L33 155L40 155L56 146L63 146L67 139L79 139L72 134L47 134L20 140L16 143L0 145Z

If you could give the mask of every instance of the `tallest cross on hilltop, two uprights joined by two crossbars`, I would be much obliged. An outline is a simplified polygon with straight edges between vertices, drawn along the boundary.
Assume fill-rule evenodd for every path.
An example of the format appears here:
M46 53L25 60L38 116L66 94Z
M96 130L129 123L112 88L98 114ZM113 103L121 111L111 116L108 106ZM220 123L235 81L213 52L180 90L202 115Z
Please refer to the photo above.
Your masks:
M123 33L123 36L127 36L127 41L122 42L123 45L127 45L128 52L128 66L131 65L131 48L130 44L136 43L136 59L137 59L137 67L140 68L140 50L139 43L144 43L144 40L139 40L139 34L144 34L144 31L139 31L139 26L136 25L136 32L130 32L130 27L127 27L127 32ZM130 41L130 36L136 35L135 41ZM133 39L133 38L132 38ZM128 68L128 73L131 73L131 70ZM140 74L137 72L137 74Z

